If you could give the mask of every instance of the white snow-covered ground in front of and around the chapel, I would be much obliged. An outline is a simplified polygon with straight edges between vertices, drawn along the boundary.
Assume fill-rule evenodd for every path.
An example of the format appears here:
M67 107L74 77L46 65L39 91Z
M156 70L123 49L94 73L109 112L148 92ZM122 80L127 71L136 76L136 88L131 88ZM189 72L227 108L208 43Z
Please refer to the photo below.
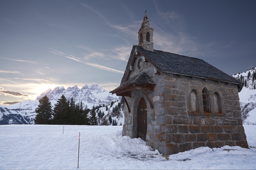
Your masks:
M79 132L79 169L256 169L256 126L244 128L250 149L202 147L166 159L122 136L122 126L65 126L62 134L60 125L1 125L0 169L77 169Z

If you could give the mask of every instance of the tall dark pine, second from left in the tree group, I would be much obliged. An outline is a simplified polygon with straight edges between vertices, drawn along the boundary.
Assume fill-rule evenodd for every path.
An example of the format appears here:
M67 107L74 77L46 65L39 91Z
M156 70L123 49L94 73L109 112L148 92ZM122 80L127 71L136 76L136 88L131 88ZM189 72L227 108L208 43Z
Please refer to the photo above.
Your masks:
M69 102L67 102L67 99L62 94L60 99L57 100L57 103L55 104L55 107L53 109L53 124L55 125L63 125L67 124L68 122L68 112L69 112Z

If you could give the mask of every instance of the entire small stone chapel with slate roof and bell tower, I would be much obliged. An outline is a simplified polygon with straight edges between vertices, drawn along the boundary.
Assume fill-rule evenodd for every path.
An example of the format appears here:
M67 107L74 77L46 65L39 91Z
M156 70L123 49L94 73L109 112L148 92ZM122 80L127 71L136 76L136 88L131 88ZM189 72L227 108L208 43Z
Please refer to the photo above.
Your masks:
M163 155L199 147L248 148L241 119L242 82L202 59L154 50L147 15L119 87L122 135L140 137Z

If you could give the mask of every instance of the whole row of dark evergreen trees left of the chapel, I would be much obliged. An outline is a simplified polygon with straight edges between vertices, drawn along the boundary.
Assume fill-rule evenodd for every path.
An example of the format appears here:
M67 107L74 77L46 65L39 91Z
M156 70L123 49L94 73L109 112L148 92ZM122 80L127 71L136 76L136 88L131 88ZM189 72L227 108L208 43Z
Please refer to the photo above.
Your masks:
M73 98L68 101L64 95L57 100L53 109L49 98L45 95L39 100L35 112L37 113L34 119L35 124L98 125L94 106L92 110L87 106L83 108L82 102L75 104Z

